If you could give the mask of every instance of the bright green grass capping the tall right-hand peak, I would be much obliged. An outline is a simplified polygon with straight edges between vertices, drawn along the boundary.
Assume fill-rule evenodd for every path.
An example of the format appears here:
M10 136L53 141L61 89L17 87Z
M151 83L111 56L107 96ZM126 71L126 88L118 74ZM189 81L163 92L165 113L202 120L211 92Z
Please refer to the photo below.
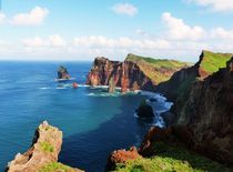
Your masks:
M209 73L219 71L220 68L225 68L226 62L233 57L232 53L214 53L211 51L203 51L204 59L201 68Z

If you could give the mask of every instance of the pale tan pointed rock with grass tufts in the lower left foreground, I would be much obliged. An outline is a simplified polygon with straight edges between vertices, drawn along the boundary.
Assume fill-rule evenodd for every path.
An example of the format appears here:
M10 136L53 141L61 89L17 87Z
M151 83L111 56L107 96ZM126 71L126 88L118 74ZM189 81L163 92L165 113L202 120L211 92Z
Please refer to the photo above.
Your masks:
M62 132L58 128L49 125L48 122L43 122L36 130L31 148L23 154L17 154L14 160L9 162L7 171L43 172L43 170L49 169L60 172L65 169L69 172L81 172L78 169L58 163L61 144Z

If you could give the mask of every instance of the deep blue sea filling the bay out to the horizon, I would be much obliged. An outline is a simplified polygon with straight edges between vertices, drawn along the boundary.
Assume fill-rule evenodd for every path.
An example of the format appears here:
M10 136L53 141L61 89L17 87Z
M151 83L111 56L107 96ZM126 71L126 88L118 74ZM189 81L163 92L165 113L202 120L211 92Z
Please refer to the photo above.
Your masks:
M60 64L80 84L58 83ZM91 62L0 62L0 171L31 145L36 128L44 120L63 131L59 161L90 172L103 171L110 152L139 145L159 113L170 103L159 94L115 93L84 85ZM155 98L152 123L134 117L143 99Z

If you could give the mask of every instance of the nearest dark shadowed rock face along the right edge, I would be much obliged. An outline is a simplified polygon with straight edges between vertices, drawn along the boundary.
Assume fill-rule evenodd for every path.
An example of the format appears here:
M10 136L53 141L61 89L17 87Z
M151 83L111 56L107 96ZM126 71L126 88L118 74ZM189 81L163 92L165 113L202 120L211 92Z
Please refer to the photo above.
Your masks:
M227 68L196 82L183 110L194 149L233 164L233 58Z

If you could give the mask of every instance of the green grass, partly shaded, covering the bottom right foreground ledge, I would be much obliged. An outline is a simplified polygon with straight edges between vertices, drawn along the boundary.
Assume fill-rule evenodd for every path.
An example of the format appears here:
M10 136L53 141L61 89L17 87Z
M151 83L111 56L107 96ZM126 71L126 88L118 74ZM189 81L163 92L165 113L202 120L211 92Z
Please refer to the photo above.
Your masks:
M183 148L154 143L155 156L118 164L116 172L230 172L231 169Z

